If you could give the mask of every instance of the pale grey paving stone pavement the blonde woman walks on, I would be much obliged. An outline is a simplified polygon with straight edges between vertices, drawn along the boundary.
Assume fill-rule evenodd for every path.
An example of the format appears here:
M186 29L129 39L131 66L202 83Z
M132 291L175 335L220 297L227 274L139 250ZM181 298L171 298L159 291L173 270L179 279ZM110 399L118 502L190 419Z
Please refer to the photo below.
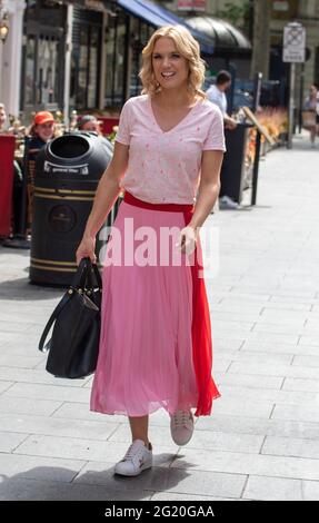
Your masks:
M129 481L112 475L126 418L90 413L91 378L56 379L37 352L61 290L28 284L29 253L0 247L0 500L318 500L318 148L299 135L260 162L255 208L207 220L222 397L183 448L152 415L154 467Z

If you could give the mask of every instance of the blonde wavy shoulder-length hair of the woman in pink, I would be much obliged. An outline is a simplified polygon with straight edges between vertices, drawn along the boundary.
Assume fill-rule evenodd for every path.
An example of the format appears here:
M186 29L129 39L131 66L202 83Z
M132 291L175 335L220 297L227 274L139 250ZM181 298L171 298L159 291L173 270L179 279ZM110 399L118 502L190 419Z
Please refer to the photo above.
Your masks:
M201 90L205 80L205 61L200 58L199 43L192 34L182 26L163 26L159 28L142 50L142 67L139 72L143 89L142 95L154 95L161 90L157 81L152 67L152 53L154 45L161 37L169 37L173 40L178 52L187 59L189 65L188 90L190 95L198 95L201 98L207 98L207 95Z

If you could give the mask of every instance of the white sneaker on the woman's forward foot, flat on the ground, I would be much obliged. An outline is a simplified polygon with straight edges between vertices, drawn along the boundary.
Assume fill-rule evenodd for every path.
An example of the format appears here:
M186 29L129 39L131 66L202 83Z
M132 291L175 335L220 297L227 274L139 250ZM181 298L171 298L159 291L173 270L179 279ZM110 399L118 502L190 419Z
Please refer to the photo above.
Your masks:
M121 476L138 476L152 466L152 446L146 447L142 440L134 440L124 457L116 464L114 473Z

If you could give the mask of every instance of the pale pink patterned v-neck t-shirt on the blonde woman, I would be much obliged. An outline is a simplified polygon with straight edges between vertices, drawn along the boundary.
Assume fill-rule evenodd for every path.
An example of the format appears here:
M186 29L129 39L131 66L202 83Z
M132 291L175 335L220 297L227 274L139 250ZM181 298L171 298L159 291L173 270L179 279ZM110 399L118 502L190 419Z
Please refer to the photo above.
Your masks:
M129 146L121 188L151 204L193 204L203 150L226 150L220 109L200 100L169 131L153 115L148 95L123 106L116 140Z

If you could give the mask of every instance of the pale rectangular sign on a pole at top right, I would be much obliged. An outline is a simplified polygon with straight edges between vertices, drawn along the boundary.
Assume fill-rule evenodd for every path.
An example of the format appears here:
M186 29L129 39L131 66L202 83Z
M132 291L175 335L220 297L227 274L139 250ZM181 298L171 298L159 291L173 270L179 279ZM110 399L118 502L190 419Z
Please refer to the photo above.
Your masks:
M299 22L288 23L283 28L285 62L303 62L306 58L306 29Z

